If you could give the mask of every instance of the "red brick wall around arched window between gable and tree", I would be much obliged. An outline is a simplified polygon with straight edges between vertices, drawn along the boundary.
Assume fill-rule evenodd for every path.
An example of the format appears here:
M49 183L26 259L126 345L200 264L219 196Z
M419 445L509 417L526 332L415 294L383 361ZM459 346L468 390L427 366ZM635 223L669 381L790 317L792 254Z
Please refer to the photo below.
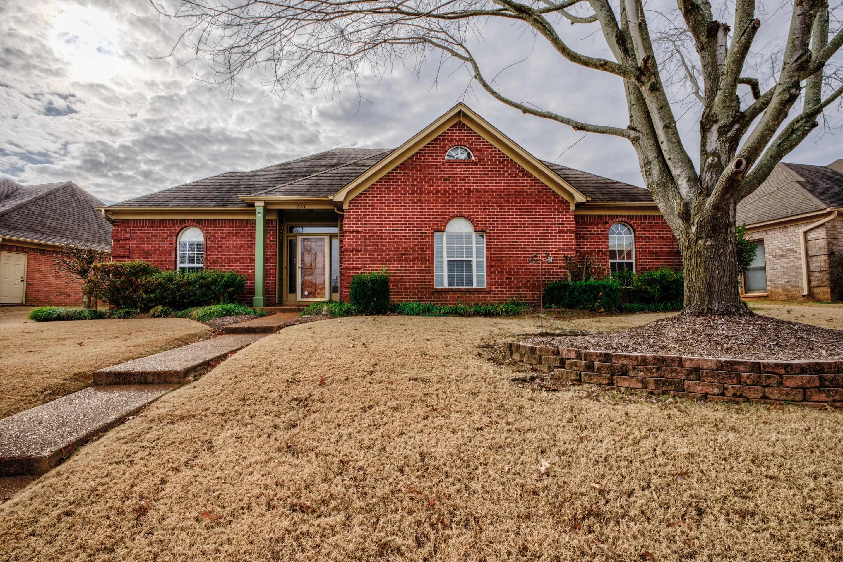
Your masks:
M661 215L577 215L577 251L601 257L609 272L609 228L625 222L635 235L636 272L682 269L679 244Z

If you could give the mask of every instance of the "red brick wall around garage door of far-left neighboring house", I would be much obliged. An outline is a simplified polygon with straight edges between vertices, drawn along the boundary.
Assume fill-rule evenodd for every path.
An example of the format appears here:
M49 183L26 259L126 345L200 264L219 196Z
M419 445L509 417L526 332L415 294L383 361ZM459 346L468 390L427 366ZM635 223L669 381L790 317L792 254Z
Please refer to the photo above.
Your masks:
M0 244L0 250L27 254L24 304L34 307L82 306L82 284L53 268L58 252L10 244Z

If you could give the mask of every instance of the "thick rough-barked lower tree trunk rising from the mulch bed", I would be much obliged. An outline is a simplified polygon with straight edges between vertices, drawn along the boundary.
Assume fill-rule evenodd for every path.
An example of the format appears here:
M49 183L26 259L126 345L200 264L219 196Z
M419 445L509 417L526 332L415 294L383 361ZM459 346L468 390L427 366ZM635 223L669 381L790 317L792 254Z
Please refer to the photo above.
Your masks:
M685 305L682 313L744 314L738 292L738 244L734 211L695 213L693 227L679 236L685 273Z

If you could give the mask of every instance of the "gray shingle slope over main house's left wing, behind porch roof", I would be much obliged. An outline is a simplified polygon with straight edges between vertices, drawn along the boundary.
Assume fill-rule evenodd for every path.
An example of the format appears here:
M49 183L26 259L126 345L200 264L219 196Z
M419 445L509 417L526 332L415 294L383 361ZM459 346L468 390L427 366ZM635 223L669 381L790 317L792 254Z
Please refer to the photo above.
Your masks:
M334 148L266 168L247 172L225 172L210 178L197 179L167 190L121 201L114 206L246 206L238 199L239 195L252 195L277 185L289 184L296 179L335 169L382 152L382 148ZM337 190L339 188L334 191ZM334 191L328 195L333 195Z

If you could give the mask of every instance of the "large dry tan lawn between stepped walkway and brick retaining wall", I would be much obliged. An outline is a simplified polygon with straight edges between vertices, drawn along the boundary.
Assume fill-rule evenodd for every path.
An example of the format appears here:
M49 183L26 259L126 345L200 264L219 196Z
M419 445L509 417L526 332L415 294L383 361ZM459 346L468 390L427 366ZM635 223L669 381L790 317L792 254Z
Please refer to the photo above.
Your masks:
M0 506L8 560L840 560L843 413L511 382L532 320L283 329Z

